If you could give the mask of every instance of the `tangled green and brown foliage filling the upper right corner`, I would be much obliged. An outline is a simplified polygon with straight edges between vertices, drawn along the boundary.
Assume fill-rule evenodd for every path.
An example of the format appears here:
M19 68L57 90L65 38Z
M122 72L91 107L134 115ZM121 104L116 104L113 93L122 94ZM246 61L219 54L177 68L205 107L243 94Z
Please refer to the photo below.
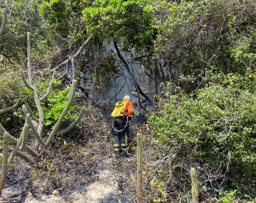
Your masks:
M245 0L162 1L155 8L155 51L193 79L182 81L187 92L205 85L209 72L244 74L256 62L255 11L255 3Z

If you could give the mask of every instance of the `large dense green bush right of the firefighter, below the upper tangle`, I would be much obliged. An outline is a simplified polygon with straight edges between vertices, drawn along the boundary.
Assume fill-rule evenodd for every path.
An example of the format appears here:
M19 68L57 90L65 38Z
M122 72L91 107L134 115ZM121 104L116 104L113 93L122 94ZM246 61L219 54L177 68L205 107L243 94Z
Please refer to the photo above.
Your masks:
M214 84L196 96L181 93L160 101L161 110L149 122L155 142L166 147L161 154L178 149L173 166L187 158L200 160L220 174L228 172L226 181L249 186L256 169L254 77L255 73L230 75L223 86Z

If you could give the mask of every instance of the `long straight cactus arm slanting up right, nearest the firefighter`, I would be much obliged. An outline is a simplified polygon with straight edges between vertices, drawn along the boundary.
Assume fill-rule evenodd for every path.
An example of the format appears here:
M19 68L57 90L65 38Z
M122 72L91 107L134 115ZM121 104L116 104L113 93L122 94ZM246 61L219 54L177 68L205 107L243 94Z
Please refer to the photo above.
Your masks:
M49 144L51 143L51 140L53 140L53 136L56 134L57 130L59 129L59 126L61 126L61 122L62 122L63 118L69 111L69 107L71 106L71 104L75 98L75 89L77 88L76 80L73 81L72 87L73 88L71 89L71 92L70 92L71 96L69 98L69 101L67 102L67 105L65 106L63 112L61 113L61 116L59 116L59 119L57 120L55 126L53 127L53 130L51 131L49 138L47 139L47 142L45 143L45 146L49 146Z

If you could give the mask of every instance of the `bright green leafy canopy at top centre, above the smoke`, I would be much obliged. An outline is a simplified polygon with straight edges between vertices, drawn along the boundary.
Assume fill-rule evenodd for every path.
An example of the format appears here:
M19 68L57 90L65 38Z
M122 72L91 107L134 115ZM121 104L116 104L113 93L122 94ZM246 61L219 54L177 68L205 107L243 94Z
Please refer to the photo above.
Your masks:
M97 0L83 9L87 32L105 39L130 43L135 49L153 44L153 6L151 0Z

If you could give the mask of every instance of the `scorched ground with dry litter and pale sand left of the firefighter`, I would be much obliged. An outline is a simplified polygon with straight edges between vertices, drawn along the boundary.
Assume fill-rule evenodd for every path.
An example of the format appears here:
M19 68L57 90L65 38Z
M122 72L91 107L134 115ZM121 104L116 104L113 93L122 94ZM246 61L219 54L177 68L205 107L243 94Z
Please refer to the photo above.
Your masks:
M79 143L57 140L37 168L17 158L7 174L0 202L137 202L135 152L130 150L129 158L115 158L109 126L103 125L87 130L86 139Z

